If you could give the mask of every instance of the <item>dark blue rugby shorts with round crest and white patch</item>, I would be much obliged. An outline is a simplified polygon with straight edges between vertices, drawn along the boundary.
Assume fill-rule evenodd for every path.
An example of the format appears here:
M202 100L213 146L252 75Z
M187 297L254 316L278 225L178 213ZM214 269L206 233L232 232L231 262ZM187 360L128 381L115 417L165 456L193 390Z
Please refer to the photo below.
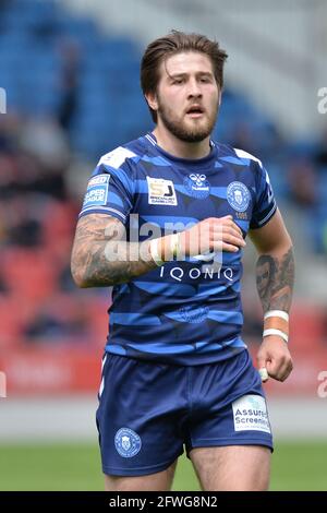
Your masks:
M107 353L96 414L102 470L142 476L186 450L264 445L272 437L249 351L217 363L173 366Z

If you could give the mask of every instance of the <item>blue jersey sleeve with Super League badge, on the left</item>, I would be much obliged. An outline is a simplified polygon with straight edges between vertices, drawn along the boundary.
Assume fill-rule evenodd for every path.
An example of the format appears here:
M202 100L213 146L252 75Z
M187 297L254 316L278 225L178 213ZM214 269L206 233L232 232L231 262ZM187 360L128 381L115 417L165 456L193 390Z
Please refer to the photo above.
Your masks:
M123 153L120 152L120 159L112 158L113 153L114 151L101 157L95 168L87 184L80 217L87 214L108 214L126 223L133 206L134 180Z

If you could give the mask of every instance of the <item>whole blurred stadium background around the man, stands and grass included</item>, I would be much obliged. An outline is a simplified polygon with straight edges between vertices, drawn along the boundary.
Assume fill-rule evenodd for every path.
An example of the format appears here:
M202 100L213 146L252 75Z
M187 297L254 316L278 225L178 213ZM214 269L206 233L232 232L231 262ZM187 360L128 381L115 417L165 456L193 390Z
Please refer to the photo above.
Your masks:
M294 371L267 384L271 489L327 489L326 19L324 0L0 0L0 490L102 489L94 413L109 293L76 289L70 251L97 159L152 128L140 57L171 28L227 49L215 135L263 159L294 239ZM253 355L254 263L249 249ZM175 489L196 486L183 460Z

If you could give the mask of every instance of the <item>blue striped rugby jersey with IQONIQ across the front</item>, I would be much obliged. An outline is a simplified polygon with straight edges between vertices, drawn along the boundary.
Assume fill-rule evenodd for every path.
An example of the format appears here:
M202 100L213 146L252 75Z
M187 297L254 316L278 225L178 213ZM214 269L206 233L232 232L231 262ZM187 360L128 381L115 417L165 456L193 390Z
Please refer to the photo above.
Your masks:
M211 142L208 156L183 159L165 152L148 133L100 158L80 216L117 217L126 226L128 240L138 223L142 241L152 235L152 225L164 236L179 222L184 226L229 214L245 237L276 208L268 174L256 157ZM222 252L218 265L213 254L167 262L114 286L106 350L179 365L223 360L244 350L242 252ZM214 259L216 267L210 266Z

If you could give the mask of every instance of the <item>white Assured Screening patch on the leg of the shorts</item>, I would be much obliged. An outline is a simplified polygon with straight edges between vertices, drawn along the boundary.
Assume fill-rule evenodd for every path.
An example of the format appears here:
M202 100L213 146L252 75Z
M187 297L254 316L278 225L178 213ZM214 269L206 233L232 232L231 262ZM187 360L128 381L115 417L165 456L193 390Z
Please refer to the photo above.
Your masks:
M270 433L266 401L261 395L243 395L232 403L235 431Z

